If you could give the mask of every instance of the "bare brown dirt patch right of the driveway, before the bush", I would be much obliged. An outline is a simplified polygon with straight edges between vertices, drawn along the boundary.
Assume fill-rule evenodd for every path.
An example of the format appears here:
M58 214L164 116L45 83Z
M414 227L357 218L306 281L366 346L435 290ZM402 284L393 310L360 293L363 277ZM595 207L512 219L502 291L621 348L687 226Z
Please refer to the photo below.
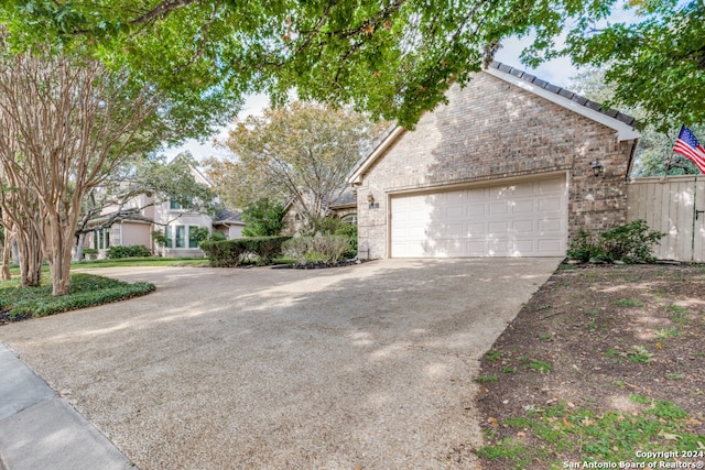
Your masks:
M633 413L638 394L673 402L705 435L704 338L705 266L562 265L482 358L480 419L499 440L527 409Z

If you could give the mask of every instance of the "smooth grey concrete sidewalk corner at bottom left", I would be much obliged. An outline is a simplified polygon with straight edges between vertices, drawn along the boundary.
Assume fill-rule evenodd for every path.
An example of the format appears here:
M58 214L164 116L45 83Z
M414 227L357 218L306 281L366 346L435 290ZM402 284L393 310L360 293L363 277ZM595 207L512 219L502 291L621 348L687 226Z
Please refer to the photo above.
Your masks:
M129 460L0 343L0 470L122 470Z

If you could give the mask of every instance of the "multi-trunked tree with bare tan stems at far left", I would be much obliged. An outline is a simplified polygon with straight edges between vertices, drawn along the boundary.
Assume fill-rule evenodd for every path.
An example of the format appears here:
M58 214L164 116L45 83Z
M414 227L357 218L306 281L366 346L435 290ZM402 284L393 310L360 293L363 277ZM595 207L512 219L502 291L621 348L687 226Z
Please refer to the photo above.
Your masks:
M20 254L25 242L33 259L43 254L54 295L67 294L84 196L122 161L161 144L167 133L156 111L164 102L85 54L35 47L13 55L2 43L0 61L2 209Z

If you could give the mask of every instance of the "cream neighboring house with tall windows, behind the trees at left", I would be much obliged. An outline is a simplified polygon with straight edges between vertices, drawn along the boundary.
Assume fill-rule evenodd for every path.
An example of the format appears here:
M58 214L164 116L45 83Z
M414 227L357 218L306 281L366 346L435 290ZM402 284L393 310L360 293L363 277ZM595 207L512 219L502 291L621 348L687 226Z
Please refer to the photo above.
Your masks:
M192 168L196 182L210 186L210 182L197 170ZM93 223L105 222L118 208L107 207L101 217ZM131 247L141 244L149 248L153 254L167 258L198 258L203 251L198 248L196 231L200 228L213 233L219 231L226 238L242 236L245 222L240 211L220 209L215 219L206 214L193 211L175 201L154 201L151 195L142 194L129 200L121 210L133 214L112 223L110 228L95 229L93 237L87 237L87 245L98 249L98 258L105 258L110 247ZM166 244L160 245L152 237L152 232L161 231Z

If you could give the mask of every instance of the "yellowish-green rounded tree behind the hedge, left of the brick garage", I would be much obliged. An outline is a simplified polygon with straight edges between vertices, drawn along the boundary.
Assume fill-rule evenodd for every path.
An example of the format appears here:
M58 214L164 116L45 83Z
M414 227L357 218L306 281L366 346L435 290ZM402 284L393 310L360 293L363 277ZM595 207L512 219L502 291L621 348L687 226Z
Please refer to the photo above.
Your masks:
M291 201L304 226L324 217L346 187L346 176L383 124L347 109L294 102L250 116L226 145L236 159L210 159L210 179L235 207L265 198Z

